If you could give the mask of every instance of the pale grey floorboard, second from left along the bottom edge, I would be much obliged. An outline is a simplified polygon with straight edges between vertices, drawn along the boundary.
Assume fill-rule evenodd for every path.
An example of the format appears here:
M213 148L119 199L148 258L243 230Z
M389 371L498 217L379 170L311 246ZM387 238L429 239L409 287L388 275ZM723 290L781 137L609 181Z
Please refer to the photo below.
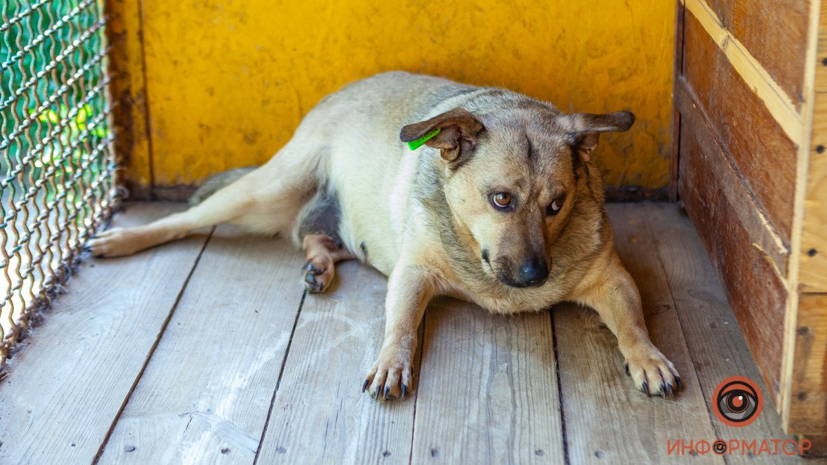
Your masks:
M217 228L100 462L252 463L303 263L289 241Z

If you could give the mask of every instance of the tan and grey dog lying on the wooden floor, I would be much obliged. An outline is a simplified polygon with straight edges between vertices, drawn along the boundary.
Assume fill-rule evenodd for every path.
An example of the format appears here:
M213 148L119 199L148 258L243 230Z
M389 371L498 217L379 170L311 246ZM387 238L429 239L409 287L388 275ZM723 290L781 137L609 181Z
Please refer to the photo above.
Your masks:
M617 336L634 386L672 396L681 378L648 337L593 159L601 132L633 122L627 111L565 114L505 89L377 74L323 98L265 165L218 175L183 213L88 247L126 256L231 223L291 234L309 292L327 289L337 261L374 266L388 276L385 340L362 391L377 399L409 392L435 295L496 314L589 306Z

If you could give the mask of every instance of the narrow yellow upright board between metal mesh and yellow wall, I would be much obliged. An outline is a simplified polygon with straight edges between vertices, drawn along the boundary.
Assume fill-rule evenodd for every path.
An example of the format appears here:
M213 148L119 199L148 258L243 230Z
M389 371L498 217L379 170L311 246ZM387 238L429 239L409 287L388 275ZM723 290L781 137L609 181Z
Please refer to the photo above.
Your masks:
M112 78L112 119L115 148L120 162L129 167L119 172L127 182L131 199L149 199L152 186L151 139L146 102L146 70L141 0L103 2L108 16L109 70Z

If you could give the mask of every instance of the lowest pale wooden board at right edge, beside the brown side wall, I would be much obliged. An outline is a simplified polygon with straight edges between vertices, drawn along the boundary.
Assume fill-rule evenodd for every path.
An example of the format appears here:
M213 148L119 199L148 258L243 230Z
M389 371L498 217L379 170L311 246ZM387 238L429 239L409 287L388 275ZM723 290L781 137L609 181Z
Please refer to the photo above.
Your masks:
M798 300L791 405L787 428L796 434L827 431L827 294Z

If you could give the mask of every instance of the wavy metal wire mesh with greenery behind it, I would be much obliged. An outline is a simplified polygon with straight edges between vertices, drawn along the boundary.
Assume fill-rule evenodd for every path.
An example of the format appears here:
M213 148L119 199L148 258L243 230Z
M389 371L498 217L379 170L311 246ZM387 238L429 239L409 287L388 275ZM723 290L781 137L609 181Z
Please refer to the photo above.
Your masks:
M3 0L0 376L117 201L100 0Z

